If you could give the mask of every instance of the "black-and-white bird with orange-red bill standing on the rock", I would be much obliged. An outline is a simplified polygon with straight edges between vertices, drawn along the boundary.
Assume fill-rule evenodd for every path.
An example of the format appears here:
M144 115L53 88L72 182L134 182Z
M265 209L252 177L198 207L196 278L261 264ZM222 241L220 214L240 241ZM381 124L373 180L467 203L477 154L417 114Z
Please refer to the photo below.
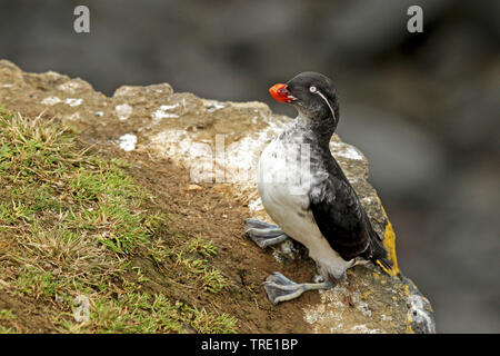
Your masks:
M276 225L246 219L246 234L261 248L289 238L299 241L322 279L294 283L276 271L263 283L269 300L277 305L307 290L333 288L356 265L372 261L390 270L382 239L330 151L340 118L331 79L306 71L269 91L298 116L263 149L258 164L259 195Z

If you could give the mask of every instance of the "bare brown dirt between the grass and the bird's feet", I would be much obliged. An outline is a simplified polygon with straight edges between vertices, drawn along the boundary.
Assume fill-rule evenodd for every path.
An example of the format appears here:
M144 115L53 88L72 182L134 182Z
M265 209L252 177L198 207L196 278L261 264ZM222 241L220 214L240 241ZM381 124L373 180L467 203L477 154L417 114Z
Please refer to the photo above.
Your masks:
M212 264L229 279L218 294L193 290L164 265L150 258L137 257L150 279L144 286L151 293L162 293L173 299L213 308L234 316L240 333L309 333L302 306L317 303L319 295L306 294L299 300L272 306L261 284L272 271L280 270L293 280L309 281L313 263L309 258L279 263L272 249L263 251L243 234L248 208L223 185L192 186L189 171L167 159L152 159L147 154L123 152L113 148L107 155L121 157L133 164L129 172L156 197L156 208L168 217L170 234L199 236L214 244L218 254ZM303 251L302 251L303 253Z

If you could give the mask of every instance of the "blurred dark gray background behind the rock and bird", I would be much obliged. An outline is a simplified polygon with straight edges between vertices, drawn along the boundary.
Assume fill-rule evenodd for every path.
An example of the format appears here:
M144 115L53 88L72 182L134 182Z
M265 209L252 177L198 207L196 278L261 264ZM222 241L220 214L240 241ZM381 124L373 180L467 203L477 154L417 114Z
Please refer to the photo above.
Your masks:
M73 31L78 4L90 33ZM422 33L407 31L412 4ZM497 0L1 0L0 58L108 96L169 82L289 116L270 85L329 76L338 134L368 157L438 332L500 333L499 19Z

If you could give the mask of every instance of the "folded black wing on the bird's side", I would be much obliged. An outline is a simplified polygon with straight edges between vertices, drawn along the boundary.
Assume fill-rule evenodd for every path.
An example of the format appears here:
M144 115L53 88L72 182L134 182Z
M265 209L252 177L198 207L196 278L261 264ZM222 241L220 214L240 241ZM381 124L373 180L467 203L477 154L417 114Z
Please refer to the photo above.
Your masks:
M340 166L332 166L309 192L316 224L330 246L346 260L357 256L380 260L390 268L390 260L373 230L359 198Z

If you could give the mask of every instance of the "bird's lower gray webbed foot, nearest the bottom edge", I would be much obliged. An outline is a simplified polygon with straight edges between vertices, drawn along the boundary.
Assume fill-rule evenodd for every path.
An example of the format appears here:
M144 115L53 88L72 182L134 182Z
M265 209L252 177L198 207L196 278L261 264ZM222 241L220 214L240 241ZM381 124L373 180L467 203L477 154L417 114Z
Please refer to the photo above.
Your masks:
M307 290L330 289L332 287L332 284L329 281L298 284L288 279L279 271L266 278L263 285L268 298L273 305L298 298Z

